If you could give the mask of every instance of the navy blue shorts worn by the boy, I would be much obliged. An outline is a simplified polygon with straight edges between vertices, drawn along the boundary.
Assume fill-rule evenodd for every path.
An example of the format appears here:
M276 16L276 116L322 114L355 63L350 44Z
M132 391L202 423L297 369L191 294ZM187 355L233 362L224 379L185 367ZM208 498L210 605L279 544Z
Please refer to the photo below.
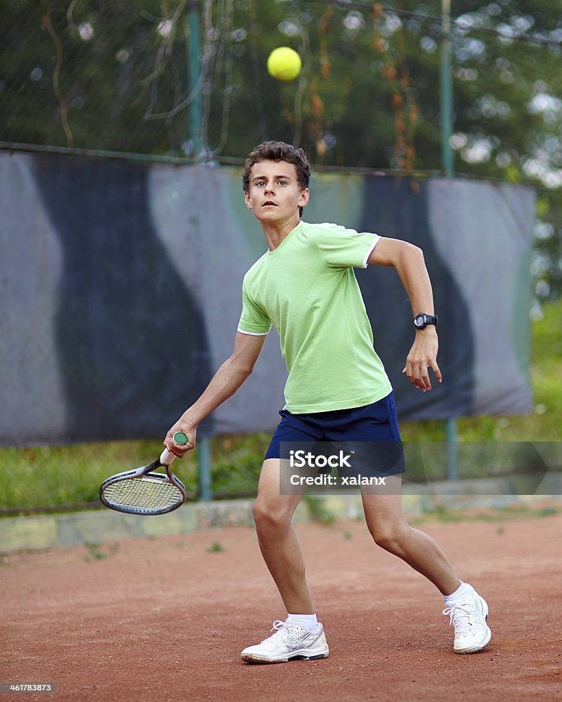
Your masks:
M352 444L360 446L370 458L376 454L379 463L384 463L380 475L394 475L406 470L392 392L363 407L309 414L292 414L282 409L279 414L281 422L274 431L265 459L287 458L284 453L297 443L330 442L337 445L342 442L348 447Z

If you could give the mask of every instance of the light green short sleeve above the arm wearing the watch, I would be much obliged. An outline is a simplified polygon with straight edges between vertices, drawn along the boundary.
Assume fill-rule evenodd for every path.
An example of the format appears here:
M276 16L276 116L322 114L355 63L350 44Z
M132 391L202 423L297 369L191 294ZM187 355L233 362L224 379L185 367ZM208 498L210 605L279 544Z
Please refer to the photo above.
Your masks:
M336 268L366 268L379 239L378 234L356 232L338 225L324 225L316 230L316 245L324 263Z

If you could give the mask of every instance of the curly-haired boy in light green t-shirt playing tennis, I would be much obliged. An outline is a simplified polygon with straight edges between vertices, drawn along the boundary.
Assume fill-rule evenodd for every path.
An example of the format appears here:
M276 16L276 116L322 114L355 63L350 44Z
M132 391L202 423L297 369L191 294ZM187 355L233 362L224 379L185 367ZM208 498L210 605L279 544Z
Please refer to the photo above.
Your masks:
M248 378L274 326L288 367L286 406L265 454L253 516L260 550L288 616L274 622L274 633L267 639L243 649L241 658L248 663L326 658L329 652L291 526L301 495L280 494L280 443L400 441L392 387L373 350L353 267L371 263L396 268L416 323L403 372L424 392L431 390L430 368L441 382L433 294L422 251L377 234L303 222L309 178L305 153L288 144L265 142L248 156L243 173L246 205L262 225L268 251L244 277L234 352L164 441L180 457L194 448L197 426ZM173 442L177 431L189 437L187 449ZM387 477L386 484L392 489L384 494L362 494L370 534L377 545L439 589L446 605L443 614L450 616L455 628L455 653L479 651L491 636L488 604L455 576L435 541L406 522L401 471L401 467L390 471L395 475Z

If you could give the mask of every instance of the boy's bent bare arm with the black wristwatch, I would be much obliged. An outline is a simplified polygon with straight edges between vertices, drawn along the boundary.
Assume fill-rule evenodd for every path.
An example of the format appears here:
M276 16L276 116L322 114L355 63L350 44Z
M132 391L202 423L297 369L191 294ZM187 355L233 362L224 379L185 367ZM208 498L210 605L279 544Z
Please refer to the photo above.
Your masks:
M371 252L368 263L396 268L410 298L413 317L418 312L434 314L433 292L422 249L408 244L407 241L381 238ZM429 368L433 369L439 383L442 380L441 371L437 365L438 348L437 331L433 324L415 331L415 340L402 372L406 373L410 383L424 392L431 390Z

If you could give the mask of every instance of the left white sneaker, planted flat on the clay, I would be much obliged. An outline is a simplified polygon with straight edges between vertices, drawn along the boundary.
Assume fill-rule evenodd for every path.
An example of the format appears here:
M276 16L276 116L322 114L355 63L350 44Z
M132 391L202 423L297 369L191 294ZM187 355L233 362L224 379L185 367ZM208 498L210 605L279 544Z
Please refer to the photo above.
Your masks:
M316 661L328 658L330 649L321 624L319 632L311 634L302 626L274 621L272 634L260 644L248 646L240 657L246 663L288 663L288 661Z

